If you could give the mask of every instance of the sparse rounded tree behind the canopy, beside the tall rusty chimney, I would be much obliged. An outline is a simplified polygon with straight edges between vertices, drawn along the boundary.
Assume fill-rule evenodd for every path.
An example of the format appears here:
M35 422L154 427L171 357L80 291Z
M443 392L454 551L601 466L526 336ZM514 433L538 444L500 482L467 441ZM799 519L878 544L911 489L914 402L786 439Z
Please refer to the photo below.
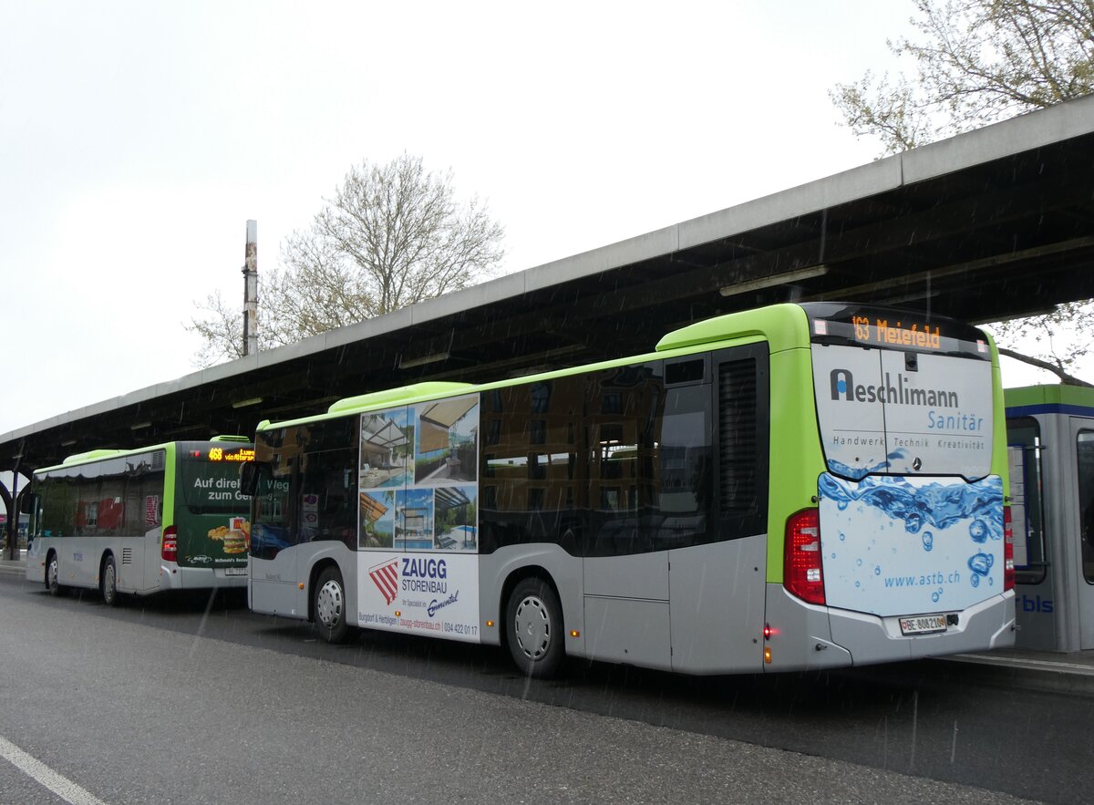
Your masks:
M457 200L451 172L429 173L408 154L363 161L312 225L284 240L280 265L259 273L259 348L473 285L497 269L503 236L477 197ZM219 291L187 329L202 340L198 365L242 357L242 306L225 304Z

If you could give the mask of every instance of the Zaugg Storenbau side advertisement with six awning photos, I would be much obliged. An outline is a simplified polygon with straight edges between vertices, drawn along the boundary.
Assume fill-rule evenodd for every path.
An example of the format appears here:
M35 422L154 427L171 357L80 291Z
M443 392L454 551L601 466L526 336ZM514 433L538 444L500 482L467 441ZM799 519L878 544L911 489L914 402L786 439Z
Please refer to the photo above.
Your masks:
M361 416L358 625L479 642L478 395Z

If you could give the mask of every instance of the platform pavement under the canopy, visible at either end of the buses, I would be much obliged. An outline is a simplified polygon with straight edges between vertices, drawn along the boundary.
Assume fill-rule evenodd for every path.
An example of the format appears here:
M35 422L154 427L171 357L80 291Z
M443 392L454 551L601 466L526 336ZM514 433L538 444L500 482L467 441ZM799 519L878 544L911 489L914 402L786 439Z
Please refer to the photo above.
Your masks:
M24 575L26 551L20 553L20 558L15 560L8 559L7 556L0 558L0 573ZM997 649L975 654L954 654L927 662L963 664L961 667L969 672L977 681L991 685L1094 697L1094 651L1064 653Z

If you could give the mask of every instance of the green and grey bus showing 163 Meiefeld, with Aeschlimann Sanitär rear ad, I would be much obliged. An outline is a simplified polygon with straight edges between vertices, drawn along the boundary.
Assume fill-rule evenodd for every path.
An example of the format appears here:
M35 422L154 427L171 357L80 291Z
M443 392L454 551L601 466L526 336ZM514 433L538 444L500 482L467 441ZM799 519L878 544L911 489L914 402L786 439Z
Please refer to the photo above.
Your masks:
M687 674L1012 645L998 357L965 324L837 303L656 351L420 383L263 422L249 604Z

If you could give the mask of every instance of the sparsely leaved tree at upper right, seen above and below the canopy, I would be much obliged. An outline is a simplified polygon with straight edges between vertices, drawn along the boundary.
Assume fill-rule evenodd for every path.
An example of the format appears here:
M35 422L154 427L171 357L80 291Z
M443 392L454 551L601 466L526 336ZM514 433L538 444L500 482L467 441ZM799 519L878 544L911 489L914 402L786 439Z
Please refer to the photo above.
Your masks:
M881 141L882 156L1094 91L1094 0L913 1L919 40L888 47L911 59L915 77L868 72L829 92L856 137ZM1092 312L1094 301L1072 302L991 329L1026 348L1004 354L1087 385L1073 372L1091 351Z

